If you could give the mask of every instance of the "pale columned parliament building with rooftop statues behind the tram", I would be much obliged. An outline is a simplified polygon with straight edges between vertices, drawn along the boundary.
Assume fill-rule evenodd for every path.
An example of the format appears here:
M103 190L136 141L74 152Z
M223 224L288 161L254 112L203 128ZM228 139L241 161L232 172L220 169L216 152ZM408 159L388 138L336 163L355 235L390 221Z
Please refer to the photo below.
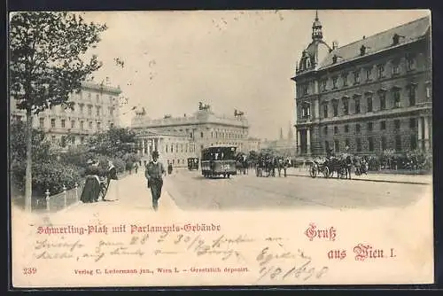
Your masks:
M217 115L208 105L199 105L196 113L183 117L165 115L151 119L145 112L136 112L131 128L138 137L139 153L149 160L153 150L160 158L175 166L184 166L188 157L200 157L203 148L217 144L232 144L238 152L246 152L249 125L245 114Z

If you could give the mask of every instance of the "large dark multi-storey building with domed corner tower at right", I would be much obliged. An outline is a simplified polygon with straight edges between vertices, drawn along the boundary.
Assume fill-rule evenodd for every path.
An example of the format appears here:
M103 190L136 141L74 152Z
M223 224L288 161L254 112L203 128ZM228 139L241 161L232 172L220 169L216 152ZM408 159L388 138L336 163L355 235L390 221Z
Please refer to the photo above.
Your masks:
M329 46L315 16L296 74L298 154L431 148L431 19Z

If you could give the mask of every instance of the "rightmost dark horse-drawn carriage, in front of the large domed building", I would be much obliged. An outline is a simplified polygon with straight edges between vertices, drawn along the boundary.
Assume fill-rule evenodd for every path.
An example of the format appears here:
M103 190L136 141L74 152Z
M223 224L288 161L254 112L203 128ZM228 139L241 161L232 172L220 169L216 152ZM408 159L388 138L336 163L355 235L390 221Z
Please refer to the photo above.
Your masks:
M338 178L351 178L351 167L353 164L350 155L341 158L330 157L325 159L311 160L309 164L309 175L315 178L322 174L325 178L332 177L334 172Z

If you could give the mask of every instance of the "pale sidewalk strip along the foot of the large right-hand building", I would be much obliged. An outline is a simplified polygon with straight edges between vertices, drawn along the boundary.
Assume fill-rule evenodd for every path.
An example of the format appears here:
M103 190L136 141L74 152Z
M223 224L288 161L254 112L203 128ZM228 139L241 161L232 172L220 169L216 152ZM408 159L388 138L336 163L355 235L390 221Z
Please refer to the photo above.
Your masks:
M308 167L291 167L287 170L287 175L310 177ZM385 182L385 183L409 183L409 184L432 184L432 175L394 175L394 174L374 174L355 175L351 174L352 179L356 181ZM320 174L317 178L323 178ZM335 176L334 176L335 177Z

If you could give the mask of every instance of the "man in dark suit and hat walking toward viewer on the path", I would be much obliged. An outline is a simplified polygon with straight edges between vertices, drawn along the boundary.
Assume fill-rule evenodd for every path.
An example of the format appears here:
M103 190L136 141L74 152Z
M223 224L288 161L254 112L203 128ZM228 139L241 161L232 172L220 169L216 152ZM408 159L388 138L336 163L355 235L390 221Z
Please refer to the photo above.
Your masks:
M159 198L161 196L161 188L163 187L163 175L165 174L165 167L159 162L159 152L152 152L152 161L146 166L144 175L148 181L148 188L151 189L152 207L154 211L157 211L159 207Z

